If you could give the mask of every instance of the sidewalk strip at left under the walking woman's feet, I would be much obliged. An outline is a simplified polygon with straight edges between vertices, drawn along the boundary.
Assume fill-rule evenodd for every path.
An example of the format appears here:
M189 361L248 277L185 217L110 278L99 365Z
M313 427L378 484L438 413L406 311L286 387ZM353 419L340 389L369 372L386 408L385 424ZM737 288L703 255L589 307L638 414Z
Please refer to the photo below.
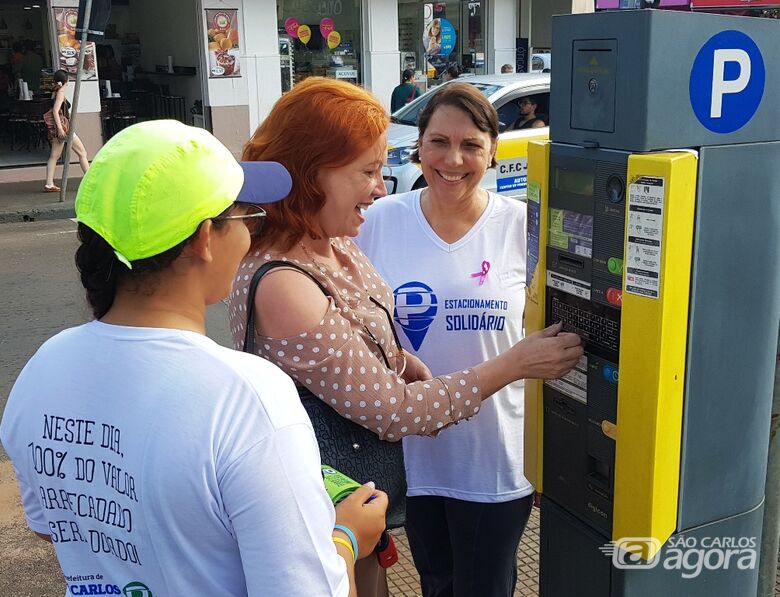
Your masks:
M43 192L43 180L0 184L0 224L74 217L73 204L80 182L79 170L78 178L68 180L68 194L62 203L59 193ZM56 179L55 184L59 185L60 180Z

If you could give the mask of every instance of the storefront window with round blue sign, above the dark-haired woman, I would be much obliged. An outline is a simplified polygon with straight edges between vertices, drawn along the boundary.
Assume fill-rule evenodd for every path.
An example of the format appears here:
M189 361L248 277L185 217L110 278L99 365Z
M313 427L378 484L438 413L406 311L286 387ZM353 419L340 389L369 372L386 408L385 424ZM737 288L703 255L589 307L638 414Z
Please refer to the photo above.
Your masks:
M422 2L398 0L398 48L401 69L411 68L418 83L443 81L454 66L461 73L484 74L484 0Z

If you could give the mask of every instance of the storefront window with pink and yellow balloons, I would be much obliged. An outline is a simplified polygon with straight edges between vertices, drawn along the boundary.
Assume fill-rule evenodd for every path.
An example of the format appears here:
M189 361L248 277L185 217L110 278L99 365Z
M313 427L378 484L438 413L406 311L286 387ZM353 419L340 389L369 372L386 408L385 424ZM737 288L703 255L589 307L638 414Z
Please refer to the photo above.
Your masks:
M282 92L306 77L362 83L360 0L277 0Z

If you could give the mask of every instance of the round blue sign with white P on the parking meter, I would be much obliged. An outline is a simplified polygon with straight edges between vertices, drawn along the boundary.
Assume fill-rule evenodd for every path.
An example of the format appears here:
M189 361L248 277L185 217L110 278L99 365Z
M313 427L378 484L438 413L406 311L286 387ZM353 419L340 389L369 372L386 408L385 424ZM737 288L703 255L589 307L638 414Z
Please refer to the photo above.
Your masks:
M745 126L764 95L761 50L741 31L721 31L705 43L691 68L688 86L696 118L714 133Z

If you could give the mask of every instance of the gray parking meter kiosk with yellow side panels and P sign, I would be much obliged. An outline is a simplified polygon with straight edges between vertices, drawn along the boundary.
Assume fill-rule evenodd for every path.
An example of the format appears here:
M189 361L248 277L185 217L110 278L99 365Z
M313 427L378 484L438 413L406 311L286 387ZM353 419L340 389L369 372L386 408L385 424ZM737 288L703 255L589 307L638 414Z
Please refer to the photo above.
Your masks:
M780 319L780 22L553 19L532 144L526 382L540 595L754 595Z

